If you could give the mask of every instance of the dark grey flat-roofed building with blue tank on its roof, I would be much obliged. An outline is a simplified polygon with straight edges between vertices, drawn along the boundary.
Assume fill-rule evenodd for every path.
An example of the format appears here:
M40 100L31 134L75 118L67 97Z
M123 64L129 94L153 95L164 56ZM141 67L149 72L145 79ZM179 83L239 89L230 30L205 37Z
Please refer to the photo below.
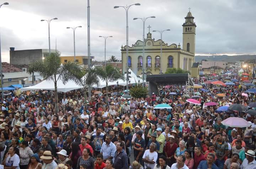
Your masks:
M58 50L57 50L58 51ZM55 53L55 49L51 49ZM17 50L10 47L10 64L20 67L21 65L29 65L34 60L42 60L44 57L49 56L49 49L28 49Z

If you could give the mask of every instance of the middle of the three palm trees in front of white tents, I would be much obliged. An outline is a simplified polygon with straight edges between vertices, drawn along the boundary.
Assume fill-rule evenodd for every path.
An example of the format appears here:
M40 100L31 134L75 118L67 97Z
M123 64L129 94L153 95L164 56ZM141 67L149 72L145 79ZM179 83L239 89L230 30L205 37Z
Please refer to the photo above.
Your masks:
M99 84L100 79L97 76L96 69L91 69L89 72L88 70L82 70L78 74L76 74L75 79L73 79L76 84L81 85L84 87L84 105L86 104L86 88L93 86L95 84Z

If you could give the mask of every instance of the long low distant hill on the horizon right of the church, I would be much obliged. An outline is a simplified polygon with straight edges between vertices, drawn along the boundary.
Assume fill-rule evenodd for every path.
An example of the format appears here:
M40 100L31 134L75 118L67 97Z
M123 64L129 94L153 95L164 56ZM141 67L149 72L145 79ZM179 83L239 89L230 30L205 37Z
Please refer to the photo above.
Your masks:
M215 57L214 57L215 56ZM224 62L239 62L251 59L256 59L256 55L213 55L213 56L196 56L196 62L206 59L208 61L224 61Z

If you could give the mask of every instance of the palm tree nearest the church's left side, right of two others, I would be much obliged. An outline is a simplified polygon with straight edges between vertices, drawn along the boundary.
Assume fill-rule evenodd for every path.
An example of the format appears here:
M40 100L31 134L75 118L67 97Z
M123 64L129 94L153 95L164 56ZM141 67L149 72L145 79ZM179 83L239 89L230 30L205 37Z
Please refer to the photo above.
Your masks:
M117 81L119 79L124 80L124 75L119 72L117 68L114 68L112 65L106 65L103 68L97 68L97 74L106 82L106 104L108 105L108 83Z

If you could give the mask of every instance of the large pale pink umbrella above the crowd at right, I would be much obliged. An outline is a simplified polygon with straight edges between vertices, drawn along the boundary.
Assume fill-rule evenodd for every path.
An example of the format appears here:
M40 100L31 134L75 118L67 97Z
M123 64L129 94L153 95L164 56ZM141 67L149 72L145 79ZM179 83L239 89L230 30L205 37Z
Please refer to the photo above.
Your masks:
M249 127L251 123L247 122L241 117L229 117L221 122L225 126L229 127Z

